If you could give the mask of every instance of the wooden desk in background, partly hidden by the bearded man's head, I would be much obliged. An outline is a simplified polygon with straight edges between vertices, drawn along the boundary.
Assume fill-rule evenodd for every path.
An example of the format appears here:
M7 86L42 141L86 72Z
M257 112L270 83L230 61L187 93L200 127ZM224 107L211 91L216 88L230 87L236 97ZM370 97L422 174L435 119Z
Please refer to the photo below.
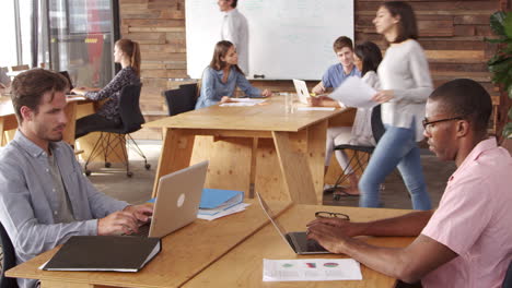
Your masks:
M66 116L68 123L66 124L62 140L69 144L74 144L74 119L77 117L77 104L82 101L78 98L68 98L68 105L66 106ZM12 107L10 98L0 100L0 145L7 144L5 131L14 130L18 128L18 119Z

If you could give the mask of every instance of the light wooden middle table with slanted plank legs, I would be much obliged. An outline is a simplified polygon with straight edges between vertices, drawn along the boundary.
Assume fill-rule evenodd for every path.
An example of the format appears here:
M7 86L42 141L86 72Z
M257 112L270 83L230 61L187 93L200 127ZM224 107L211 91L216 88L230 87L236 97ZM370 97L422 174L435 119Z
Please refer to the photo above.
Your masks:
M153 194L160 177L209 159L208 188L248 192L255 184L267 200L322 203L327 127L352 119L352 110L341 109L287 115L283 97L275 96L265 105L216 105L146 123L164 131Z

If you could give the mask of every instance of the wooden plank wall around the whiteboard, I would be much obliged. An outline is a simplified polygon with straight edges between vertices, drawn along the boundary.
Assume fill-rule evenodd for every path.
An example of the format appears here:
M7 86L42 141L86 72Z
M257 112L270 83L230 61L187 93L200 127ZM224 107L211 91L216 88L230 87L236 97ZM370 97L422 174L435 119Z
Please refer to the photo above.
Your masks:
M372 24L382 1L354 1L356 43L372 40L385 50L383 38ZM498 95L486 65L496 47L484 38L492 36L489 16L510 0L409 2L418 17L419 41L427 52L434 84L469 77L480 82L491 95ZM158 119L166 115L161 92L186 83L172 80L187 77L185 0L119 0L119 5L123 37L141 45L142 111L147 120ZM335 61L333 55L333 63ZM291 81L255 81L254 84L272 91L293 91ZM142 129L136 137L160 139L161 133Z

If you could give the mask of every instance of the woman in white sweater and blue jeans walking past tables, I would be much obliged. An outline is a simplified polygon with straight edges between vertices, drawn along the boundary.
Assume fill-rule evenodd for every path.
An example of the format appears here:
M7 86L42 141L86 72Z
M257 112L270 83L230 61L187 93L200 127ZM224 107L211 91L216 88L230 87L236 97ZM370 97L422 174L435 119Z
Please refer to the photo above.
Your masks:
M379 187L396 167L410 193L412 208L430 209L417 141L423 137L420 119L433 87L423 49L416 41L416 16L409 4L391 1L380 7L373 23L389 43L377 70L382 91L372 98L382 104L386 131L359 182L359 204L377 207Z

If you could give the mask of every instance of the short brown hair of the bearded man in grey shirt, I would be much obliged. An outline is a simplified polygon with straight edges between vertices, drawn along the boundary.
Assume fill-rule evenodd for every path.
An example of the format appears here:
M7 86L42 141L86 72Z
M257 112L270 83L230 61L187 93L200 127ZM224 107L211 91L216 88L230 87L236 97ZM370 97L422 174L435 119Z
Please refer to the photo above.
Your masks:
M20 123L23 122L21 108L26 106L38 112L43 95L48 92L67 92L68 80L57 72L45 69L32 69L14 77L11 85L11 99Z

